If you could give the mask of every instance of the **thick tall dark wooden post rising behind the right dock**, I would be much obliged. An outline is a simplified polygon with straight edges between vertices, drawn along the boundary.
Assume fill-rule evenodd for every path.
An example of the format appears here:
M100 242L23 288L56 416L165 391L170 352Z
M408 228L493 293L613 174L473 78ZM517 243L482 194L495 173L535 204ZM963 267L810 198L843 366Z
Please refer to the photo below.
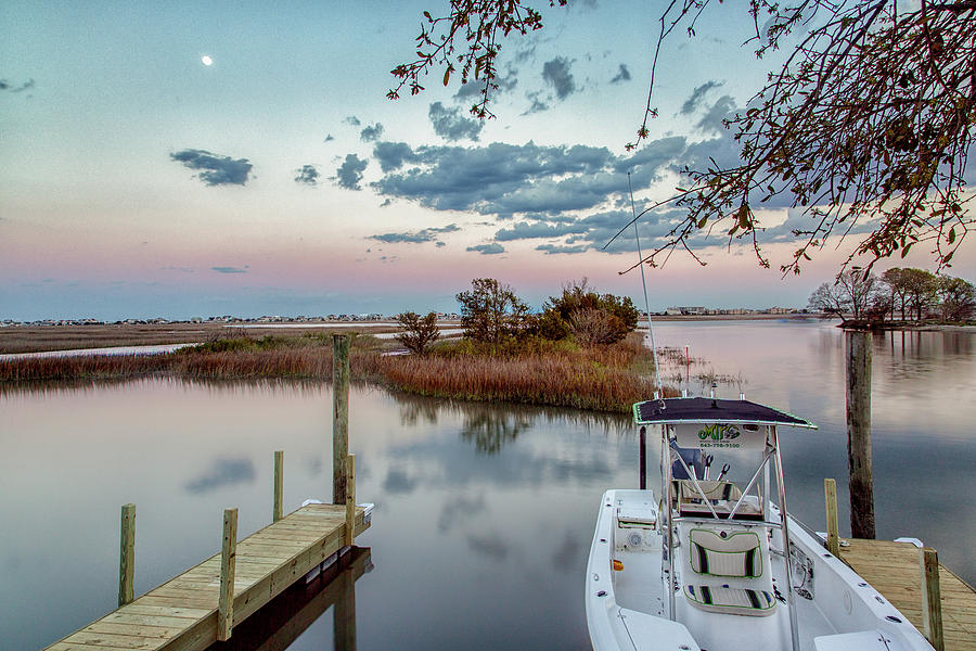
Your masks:
M847 341L847 468L850 473L850 535L874 539L871 471L871 333L845 331Z

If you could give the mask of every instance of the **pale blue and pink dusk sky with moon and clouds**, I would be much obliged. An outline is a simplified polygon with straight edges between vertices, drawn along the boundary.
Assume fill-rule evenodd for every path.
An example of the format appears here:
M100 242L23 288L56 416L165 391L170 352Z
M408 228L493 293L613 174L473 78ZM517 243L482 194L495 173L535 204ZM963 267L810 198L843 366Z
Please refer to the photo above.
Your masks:
M539 307L570 281L643 305L632 237L601 247L684 165L734 154L721 119L776 58L709 7L666 41L665 3L580 0L505 41L497 118L473 85L386 99L439 0L0 3L0 320L455 311L474 278ZM660 7L659 7L660 5ZM643 246L668 215L642 218ZM673 217L673 216L671 216ZM846 259L832 241L782 278L786 208L752 250L696 240L646 270L652 310L804 307ZM973 280L976 243L950 273ZM927 251L886 266L933 268Z

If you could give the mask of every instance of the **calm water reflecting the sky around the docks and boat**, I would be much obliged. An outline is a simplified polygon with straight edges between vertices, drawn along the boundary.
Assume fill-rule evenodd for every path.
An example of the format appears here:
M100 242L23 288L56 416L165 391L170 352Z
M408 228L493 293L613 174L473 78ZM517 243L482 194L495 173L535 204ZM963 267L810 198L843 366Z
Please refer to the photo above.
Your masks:
M781 435L789 509L823 524L838 478L847 528L843 334L831 324L663 323L659 346L708 360L746 396L809 418ZM683 366L667 370L684 375ZM976 334L875 337L878 537L909 535L976 583ZM271 514L272 452L285 505L331 495L329 387L140 381L0 395L0 640L48 644L112 610L118 514L136 502L136 591ZM586 649L581 585L603 490L637 483L629 419L395 396L354 388L359 538L375 569L355 586L360 649ZM652 459L656 451L652 449ZM656 467L656 463L653 463ZM652 469L652 474L653 474ZM958 497L955 497L958 496ZM291 649L333 648L333 609Z

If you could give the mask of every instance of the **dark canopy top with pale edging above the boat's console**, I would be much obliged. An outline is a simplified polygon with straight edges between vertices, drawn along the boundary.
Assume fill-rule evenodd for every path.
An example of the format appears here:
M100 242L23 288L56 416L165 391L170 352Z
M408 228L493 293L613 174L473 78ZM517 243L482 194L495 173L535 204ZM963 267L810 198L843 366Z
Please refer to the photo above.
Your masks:
M633 406L633 420L639 425L755 423L757 425L793 425L817 429L817 425L810 421L766 405L758 405L749 400L721 400L718 398L644 400Z

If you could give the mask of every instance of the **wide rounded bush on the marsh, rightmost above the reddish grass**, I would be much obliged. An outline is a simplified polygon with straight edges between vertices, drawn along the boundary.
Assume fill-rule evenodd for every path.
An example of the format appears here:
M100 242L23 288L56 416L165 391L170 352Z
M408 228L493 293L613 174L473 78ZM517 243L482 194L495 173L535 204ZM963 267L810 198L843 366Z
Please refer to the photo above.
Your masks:
M572 335L585 346L614 344L637 328L638 309L630 297L598 294L583 278L563 286L542 306L539 330L547 339Z

